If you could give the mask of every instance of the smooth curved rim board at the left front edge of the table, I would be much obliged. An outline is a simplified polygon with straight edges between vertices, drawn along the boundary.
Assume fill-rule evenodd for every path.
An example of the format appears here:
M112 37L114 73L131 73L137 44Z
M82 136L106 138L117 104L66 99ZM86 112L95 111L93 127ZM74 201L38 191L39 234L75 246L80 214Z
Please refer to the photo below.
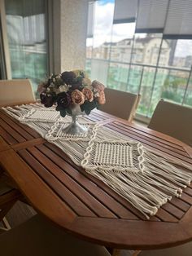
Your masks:
M76 214L57 196L49 186L19 157L12 149L0 153L0 162L4 170L33 207L63 228L68 228ZM16 166L16 168L15 168ZM63 218L64 216L64 218Z

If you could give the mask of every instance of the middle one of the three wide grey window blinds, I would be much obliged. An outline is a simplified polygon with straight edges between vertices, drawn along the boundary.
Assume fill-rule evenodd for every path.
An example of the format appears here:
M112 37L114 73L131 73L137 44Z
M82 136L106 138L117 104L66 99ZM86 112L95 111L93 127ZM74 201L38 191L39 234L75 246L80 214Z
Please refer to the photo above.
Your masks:
M167 10L168 0L138 1L136 33L163 33Z

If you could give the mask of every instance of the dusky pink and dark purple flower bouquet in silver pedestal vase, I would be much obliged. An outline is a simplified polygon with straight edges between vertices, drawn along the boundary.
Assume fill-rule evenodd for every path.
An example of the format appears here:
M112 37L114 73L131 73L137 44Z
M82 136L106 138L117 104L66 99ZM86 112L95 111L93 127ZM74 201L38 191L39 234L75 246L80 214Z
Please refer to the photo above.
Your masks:
M91 82L85 71L73 70L51 75L38 86L37 92L46 108L54 105L62 117L72 116L72 124L64 132L74 135L86 130L76 116L89 115L99 104L105 104L104 88L101 82Z

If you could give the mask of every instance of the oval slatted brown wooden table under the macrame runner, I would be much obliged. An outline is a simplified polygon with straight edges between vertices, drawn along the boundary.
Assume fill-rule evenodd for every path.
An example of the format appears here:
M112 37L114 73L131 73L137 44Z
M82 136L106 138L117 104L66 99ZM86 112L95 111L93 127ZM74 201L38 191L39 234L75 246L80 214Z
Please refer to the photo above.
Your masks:
M99 121L111 117L94 111ZM87 241L116 249L158 249L192 240L192 186L146 218L54 144L0 111L0 162L37 212ZM192 164L177 139L116 118L107 126L148 148Z

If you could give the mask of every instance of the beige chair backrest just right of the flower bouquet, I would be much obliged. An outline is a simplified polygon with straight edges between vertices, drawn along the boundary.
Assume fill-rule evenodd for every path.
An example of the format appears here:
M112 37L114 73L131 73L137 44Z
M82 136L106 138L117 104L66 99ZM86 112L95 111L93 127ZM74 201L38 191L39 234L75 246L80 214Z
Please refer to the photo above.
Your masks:
M101 105L100 110L128 121L133 120L140 95L106 88L105 97L106 104Z

